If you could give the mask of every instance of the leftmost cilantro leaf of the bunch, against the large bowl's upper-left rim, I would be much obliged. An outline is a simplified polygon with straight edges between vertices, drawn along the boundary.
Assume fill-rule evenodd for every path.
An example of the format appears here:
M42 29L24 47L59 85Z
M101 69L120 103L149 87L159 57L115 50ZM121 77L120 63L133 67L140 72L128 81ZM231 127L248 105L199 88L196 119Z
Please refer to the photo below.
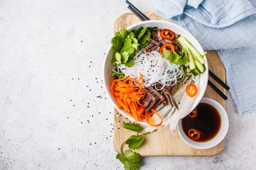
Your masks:
M122 29L121 31L116 33L114 38L111 39L111 44L112 44L111 49L114 52L118 52L121 49L121 46L127 35L128 35L128 31L126 29Z

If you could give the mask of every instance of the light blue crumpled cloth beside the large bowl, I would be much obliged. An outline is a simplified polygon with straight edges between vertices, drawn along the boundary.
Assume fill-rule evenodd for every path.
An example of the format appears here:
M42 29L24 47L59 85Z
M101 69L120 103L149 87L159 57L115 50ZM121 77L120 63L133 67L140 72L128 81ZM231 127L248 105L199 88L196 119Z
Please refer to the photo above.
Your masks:
M152 0L156 12L184 27L205 50L217 50L238 115L256 110L256 1ZM218 67L213 68L218 69Z

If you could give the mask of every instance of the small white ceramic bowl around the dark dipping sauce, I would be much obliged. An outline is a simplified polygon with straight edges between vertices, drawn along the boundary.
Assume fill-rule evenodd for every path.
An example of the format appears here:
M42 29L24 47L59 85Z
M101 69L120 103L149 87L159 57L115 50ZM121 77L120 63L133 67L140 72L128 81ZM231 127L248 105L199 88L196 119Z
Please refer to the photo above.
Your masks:
M191 140L186 134L184 134L184 131L182 130L181 120L179 121L177 128L178 128L180 137L186 144L197 149L208 149L218 145L224 139L224 137L227 134L227 130L229 128L229 118L227 117L226 110L215 100L209 99L209 98L202 98L201 102L212 105L220 113L221 125L220 125L220 130L218 134L209 141L197 142L197 141Z

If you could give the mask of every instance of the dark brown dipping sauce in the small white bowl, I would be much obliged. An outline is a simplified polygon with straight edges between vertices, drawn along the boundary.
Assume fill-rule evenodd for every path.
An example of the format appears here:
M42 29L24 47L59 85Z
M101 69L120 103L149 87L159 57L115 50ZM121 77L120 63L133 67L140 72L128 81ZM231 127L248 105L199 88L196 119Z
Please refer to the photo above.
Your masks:
M207 103L199 103L198 115L195 118L186 116L182 119L182 130L189 137L188 131L191 128L200 130L203 137L196 141L205 142L213 139L219 132L221 126L220 113L216 108Z

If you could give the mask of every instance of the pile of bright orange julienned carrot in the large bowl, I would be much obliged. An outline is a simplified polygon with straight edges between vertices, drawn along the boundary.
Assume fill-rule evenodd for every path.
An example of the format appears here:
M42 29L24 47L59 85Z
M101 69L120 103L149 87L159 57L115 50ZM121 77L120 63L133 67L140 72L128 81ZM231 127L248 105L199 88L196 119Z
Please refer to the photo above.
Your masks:
M112 96L116 97L118 108L124 108L124 110L126 110L129 115L134 117L135 122L141 121L141 118L144 118L149 125L159 126L162 124L162 121L160 124L153 125L154 121L151 117L151 115L155 113L158 115L158 113L151 109L151 113L146 112L146 114L144 114L145 110L143 108L143 104L139 103L141 97L145 95L145 92L141 91L143 85L143 76L140 73L139 75L141 77L141 83L139 83L139 81L134 78L111 80L111 94ZM134 82L136 84L134 84ZM160 115L158 116L161 117Z

